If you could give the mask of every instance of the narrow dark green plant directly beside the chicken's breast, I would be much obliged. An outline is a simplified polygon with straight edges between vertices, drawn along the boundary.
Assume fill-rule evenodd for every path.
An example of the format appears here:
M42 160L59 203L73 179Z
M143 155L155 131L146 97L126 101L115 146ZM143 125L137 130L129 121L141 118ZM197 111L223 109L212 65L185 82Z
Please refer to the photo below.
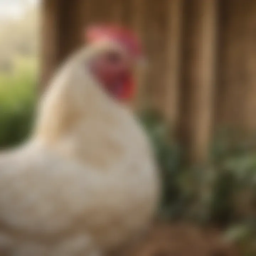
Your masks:
M160 167L163 181L161 213L171 217L180 216L185 203L180 186L183 170L181 149L157 113L144 112L140 114L140 120L151 139Z

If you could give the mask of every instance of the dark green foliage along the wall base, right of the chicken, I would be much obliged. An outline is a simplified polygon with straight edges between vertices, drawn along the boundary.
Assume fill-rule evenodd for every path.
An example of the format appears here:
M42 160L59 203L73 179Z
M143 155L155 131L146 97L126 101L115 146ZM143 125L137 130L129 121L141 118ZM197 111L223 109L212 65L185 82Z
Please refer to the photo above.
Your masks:
M256 255L256 141L228 132L213 140L207 165L187 167L161 118L141 121L155 148L162 174L162 212L222 227L242 255ZM238 224L239 223L239 224Z

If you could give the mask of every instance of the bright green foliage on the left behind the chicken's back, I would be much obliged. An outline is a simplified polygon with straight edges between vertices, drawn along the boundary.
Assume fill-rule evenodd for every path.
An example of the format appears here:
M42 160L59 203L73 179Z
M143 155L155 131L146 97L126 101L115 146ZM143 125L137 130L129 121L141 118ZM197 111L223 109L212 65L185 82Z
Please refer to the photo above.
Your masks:
M35 85L31 65L22 64L15 73L0 74L0 148L20 143L30 132Z

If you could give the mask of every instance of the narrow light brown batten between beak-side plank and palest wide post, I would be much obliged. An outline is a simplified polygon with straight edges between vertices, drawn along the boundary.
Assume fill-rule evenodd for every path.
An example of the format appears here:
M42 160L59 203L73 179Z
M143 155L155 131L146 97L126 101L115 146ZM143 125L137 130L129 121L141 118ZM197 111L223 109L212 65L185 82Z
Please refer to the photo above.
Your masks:
M179 115L183 0L168 1L165 118L176 130Z

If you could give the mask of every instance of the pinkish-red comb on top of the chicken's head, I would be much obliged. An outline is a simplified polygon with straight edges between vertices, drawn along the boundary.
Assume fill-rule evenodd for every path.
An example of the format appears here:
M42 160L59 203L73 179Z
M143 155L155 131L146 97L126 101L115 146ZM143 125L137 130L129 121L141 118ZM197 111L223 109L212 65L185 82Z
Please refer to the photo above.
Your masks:
M86 30L89 43L111 39L125 47L134 57L142 55L142 46L138 37L130 30L119 26L91 26Z

